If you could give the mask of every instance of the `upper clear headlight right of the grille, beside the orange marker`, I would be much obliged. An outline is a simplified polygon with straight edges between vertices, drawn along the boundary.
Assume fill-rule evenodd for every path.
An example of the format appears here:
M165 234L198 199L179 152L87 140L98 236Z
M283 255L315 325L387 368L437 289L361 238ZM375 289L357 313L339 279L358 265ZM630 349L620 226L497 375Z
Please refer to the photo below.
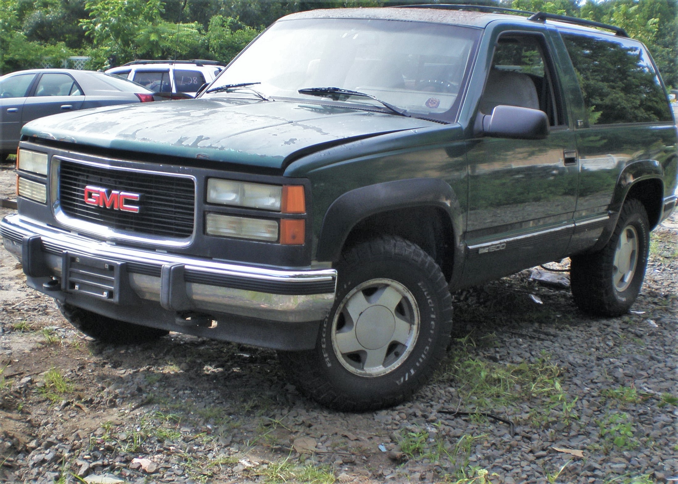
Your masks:
M283 187L260 183L207 180L207 203L280 211Z

